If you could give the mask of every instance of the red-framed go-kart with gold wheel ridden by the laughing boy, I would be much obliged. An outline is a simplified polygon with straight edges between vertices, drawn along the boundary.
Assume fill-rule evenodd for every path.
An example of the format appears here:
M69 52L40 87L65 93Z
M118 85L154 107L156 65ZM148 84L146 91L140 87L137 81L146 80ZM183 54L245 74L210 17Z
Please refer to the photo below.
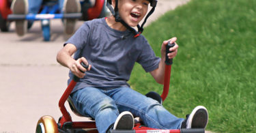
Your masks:
M166 57L168 53L171 53L169 51L169 48L173 47L175 44L168 43L166 48ZM162 95L159 95L156 92L151 91L150 93L147 93L146 96L153 98L154 100L158 101L160 104L167 98L167 95L169 93L169 83L170 83L170 77L171 77L171 65L173 63L172 59L168 59L168 57L165 60L165 83L162 91ZM85 65L81 63L84 68L88 68L88 65ZM72 121L72 118L70 116L70 113L68 113L68 110L64 106L65 102L68 101L71 110L75 115L83 116L79 114L79 112L76 110L74 104L72 103L72 100L69 98L70 93L72 92L72 89L75 87L76 82L79 81L79 78L74 76L72 78L72 81L68 85L67 89L61 96L61 99L59 100L59 109L61 110L62 116L59 118L59 121L56 123L55 119L49 115L45 115L41 117L38 120L38 124L36 127L36 133L57 133L57 132L87 132L87 133L94 133L98 132L96 129L96 123L95 121ZM103 120L102 120L103 121ZM132 130L110 130L111 133L204 133L205 130L203 128L192 128L192 129L180 129L180 130L161 130L161 129L154 129L154 128L147 128L143 125L141 122L137 122L134 125L134 128Z

